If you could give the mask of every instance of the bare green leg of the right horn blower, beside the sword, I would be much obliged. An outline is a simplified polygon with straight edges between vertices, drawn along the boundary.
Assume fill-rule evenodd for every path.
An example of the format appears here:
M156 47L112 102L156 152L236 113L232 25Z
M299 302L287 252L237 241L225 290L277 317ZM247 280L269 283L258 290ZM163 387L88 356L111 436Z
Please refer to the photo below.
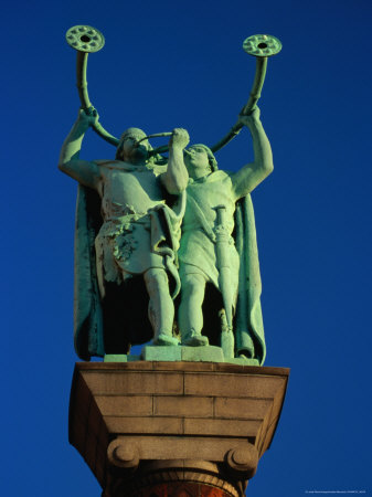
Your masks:
M209 343L202 336L202 305L206 281L201 274L187 274L182 278L181 304L179 308L179 326L182 345L199 347Z

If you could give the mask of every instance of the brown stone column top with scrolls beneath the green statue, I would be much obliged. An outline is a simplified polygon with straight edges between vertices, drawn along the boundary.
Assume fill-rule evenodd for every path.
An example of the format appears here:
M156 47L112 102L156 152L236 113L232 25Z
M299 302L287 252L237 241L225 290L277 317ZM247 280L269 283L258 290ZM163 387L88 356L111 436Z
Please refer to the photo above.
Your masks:
M269 447L289 370L76 363L70 442L104 497L241 497Z

